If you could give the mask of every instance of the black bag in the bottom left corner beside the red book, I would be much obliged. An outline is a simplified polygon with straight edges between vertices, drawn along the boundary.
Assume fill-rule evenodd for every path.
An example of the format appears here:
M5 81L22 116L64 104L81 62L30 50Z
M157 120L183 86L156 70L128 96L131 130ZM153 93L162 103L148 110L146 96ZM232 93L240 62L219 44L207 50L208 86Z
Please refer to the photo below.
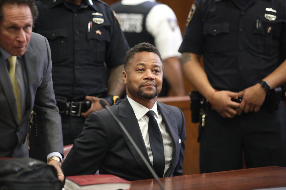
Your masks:
M32 158L0 159L0 189L61 190L55 167Z

